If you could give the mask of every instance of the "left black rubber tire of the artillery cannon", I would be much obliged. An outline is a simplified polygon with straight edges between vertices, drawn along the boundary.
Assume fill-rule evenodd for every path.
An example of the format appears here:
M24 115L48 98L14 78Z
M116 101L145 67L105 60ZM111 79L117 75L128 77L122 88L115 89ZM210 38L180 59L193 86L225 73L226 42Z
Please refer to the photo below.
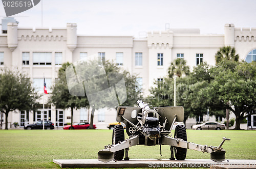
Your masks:
M123 142L124 140L124 131L122 125L115 125L112 134L112 143L113 145L118 144L118 142ZM124 149L114 152L115 160L122 160L124 155Z

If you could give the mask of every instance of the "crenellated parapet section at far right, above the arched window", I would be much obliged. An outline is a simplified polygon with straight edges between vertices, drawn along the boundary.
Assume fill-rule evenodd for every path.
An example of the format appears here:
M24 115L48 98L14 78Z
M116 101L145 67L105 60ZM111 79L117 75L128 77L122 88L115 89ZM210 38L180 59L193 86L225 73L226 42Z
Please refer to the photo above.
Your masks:
M235 42L256 42L256 28L235 28Z

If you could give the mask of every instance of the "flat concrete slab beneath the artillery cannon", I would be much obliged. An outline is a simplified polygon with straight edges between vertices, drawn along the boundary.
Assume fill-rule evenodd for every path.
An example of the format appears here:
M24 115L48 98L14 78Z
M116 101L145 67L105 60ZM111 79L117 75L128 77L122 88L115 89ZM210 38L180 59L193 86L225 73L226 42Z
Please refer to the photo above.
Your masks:
M240 160L231 159L223 162L214 162L209 159L185 159L183 161L169 159L130 159L129 161L109 161L102 162L97 159L58 159L53 160L61 168L91 168L91 167L109 167L109 168L124 168L124 167L208 167L212 169L224 168L256 168L256 160Z

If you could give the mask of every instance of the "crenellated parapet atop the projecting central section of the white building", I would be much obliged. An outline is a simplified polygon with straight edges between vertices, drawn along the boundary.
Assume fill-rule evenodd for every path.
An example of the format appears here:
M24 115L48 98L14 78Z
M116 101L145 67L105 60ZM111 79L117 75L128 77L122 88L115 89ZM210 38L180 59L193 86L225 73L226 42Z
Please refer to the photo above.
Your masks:
M147 34L148 48L172 48L173 32L172 31L154 31Z

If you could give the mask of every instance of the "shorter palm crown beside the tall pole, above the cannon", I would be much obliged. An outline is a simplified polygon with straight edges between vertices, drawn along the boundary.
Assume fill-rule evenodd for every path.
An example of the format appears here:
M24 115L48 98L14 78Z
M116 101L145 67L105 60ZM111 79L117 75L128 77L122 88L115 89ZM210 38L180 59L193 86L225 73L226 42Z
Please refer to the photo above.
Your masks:
M186 61L184 59L178 58L170 64L168 68L169 77L172 78L174 73L176 73L178 77L181 77L183 74L189 74L189 67L186 66Z

